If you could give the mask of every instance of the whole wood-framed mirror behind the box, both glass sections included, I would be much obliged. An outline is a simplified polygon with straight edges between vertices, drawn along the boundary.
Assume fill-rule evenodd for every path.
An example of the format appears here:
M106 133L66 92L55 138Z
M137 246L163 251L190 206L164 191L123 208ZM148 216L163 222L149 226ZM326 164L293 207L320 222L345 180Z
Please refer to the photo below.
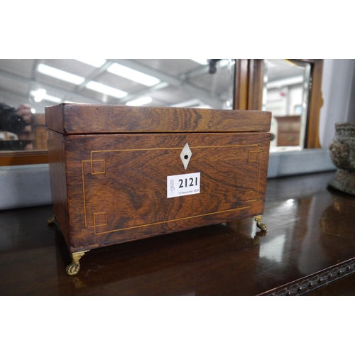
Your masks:
M0 103L31 107L26 131L0 130L0 165L48 163L44 111L61 102L267 109L272 148L317 148L321 78L322 60L0 59ZM289 146L282 116L299 116Z

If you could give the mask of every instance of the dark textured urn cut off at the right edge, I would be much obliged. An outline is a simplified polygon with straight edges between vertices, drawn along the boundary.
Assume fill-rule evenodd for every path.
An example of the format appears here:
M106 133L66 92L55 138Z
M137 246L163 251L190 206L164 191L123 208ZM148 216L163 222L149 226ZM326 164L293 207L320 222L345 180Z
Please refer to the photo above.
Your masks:
M335 136L329 148L330 158L338 168L329 185L355 195L355 123L335 124Z

